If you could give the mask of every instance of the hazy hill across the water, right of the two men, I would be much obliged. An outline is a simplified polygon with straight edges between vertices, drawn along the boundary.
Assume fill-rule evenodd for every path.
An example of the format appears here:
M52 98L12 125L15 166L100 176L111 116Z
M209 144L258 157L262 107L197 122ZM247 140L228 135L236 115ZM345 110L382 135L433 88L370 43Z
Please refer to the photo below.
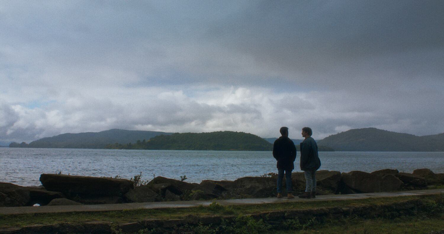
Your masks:
M330 135L317 144L336 151L444 151L444 133L416 136L371 127Z

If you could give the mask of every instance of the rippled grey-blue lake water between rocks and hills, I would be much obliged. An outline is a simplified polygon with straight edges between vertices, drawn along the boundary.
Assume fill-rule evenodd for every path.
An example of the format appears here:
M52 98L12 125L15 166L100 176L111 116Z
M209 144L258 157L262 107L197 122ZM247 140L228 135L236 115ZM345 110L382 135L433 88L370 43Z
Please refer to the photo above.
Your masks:
M444 172L444 152L319 152L319 170L366 171L385 168L412 173L428 168ZM295 171L299 171L299 152ZM132 178L153 174L201 182L204 179L235 180L276 172L271 151L148 151L96 149L0 148L0 182L40 185L42 173Z

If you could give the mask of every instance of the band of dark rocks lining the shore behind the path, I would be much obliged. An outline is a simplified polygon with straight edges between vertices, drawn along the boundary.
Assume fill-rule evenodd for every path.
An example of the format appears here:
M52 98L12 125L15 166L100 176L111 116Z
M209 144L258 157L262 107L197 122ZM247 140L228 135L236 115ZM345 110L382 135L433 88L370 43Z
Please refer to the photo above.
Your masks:
M28 187L0 182L0 206L266 198L277 194L276 175L273 174L234 181L203 180L199 184L158 176L141 186L134 186L133 181L122 178L42 174L40 182L42 186ZM302 193L304 174L292 173L292 183L295 194ZM429 169L417 169L412 174L393 169L372 173L317 171L317 194L320 195L418 190L443 184L444 173L435 174Z

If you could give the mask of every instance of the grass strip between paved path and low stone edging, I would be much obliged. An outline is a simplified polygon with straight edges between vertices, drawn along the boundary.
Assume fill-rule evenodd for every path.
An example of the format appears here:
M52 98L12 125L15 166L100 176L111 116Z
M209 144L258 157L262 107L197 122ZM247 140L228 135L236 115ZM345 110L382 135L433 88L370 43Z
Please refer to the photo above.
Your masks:
M213 202L210 206L198 206L192 208L174 209L139 209L139 210L116 210L102 212L69 212L69 213L42 213L42 214L14 214L0 215L0 227L22 227L34 224L56 224L59 222L80 223L87 221L109 221L116 223L136 222L147 218L174 219L183 218L189 214L206 215L245 215L257 214L274 210L305 210L327 207L350 207L362 205L386 205L397 202L414 201L420 199L429 202L430 207L436 206L438 213L442 212L444 195L427 196L400 196L391 198L366 198L359 200L342 201L320 201L289 202L289 203L267 203L258 205L223 206ZM441 211L439 211L441 210ZM291 225L291 223L289 224ZM296 225L296 224L294 224Z

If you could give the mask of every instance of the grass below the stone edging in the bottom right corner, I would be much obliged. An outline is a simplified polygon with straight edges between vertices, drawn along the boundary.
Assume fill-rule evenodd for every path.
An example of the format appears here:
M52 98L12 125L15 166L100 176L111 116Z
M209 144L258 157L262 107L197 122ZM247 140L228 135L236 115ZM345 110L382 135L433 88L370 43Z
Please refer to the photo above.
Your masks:
M444 230L444 216L402 217L395 219L344 219L325 223L308 230L277 231L276 234L421 234Z

